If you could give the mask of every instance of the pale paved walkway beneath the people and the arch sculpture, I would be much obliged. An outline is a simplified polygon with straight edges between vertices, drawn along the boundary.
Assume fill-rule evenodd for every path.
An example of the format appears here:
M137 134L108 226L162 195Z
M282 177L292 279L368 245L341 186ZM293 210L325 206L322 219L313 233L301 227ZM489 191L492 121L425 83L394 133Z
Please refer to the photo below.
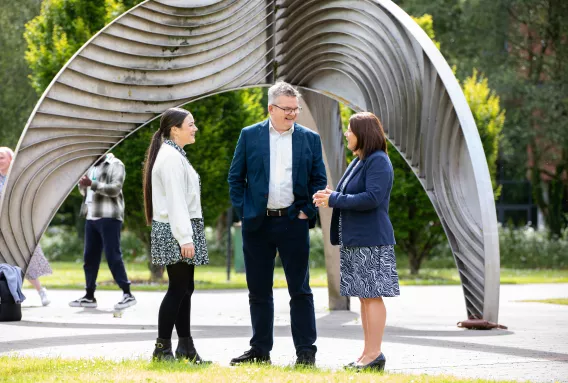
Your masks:
M82 292L52 290L52 304L41 307L35 291L24 292L21 322L0 324L0 354L68 358L149 359L157 334L163 293L136 293L138 305L113 317L118 291L97 293L98 309L70 308ZM387 370L412 374L451 374L464 378L568 382L568 306L519 300L568 297L568 284L501 287L499 322L509 330L471 331L456 327L464 319L459 286L402 286L387 300L383 351ZM275 345L272 359L294 361L286 290L275 290ZM351 312L327 310L327 290L314 290L318 318L318 366L337 369L362 348L359 303ZM248 349L251 336L247 293L197 291L192 333L199 353L221 365Z

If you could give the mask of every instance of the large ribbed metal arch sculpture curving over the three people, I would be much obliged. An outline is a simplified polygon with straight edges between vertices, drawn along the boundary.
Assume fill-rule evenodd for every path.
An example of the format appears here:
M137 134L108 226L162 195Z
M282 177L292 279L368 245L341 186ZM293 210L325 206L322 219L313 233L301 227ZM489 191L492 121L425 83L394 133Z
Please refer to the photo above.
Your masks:
M481 141L446 61L390 0L148 0L116 19L29 118L0 202L0 262L26 269L80 176L166 108L277 79L380 116L440 217L468 314L496 322L497 220ZM322 136L341 133L316 117ZM338 174L337 139L323 141Z

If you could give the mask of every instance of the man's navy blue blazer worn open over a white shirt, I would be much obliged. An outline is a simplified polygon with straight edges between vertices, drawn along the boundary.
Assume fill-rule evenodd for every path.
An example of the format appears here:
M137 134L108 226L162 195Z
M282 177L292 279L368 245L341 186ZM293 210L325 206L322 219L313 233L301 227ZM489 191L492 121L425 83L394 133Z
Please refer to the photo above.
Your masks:
M260 228L266 217L270 177L269 127L269 120L266 120L241 131L229 169L231 202L243 222L243 230L247 231ZM288 209L288 216L295 219L301 210L308 216L312 228L317 213L312 196L325 189L327 177L319 135L299 124L294 125L292 133L292 183L294 204Z

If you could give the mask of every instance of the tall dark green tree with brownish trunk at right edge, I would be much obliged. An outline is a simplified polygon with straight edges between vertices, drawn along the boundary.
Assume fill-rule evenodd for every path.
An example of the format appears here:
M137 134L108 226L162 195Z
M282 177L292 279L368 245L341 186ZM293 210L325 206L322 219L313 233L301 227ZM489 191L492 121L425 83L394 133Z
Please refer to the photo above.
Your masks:
M507 101L513 136L528 148L533 196L552 237L568 226L568 3L509 0ZM513 158L518 158L512 153Z

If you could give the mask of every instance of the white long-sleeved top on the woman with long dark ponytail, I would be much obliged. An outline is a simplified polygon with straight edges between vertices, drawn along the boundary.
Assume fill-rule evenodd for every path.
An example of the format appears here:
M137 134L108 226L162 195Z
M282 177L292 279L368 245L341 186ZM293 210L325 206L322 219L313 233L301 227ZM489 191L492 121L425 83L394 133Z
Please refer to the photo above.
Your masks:
M169 223L180 246L193 243L191 219L203 218L199 176L174 147L162 144L152 169L152 219Z

